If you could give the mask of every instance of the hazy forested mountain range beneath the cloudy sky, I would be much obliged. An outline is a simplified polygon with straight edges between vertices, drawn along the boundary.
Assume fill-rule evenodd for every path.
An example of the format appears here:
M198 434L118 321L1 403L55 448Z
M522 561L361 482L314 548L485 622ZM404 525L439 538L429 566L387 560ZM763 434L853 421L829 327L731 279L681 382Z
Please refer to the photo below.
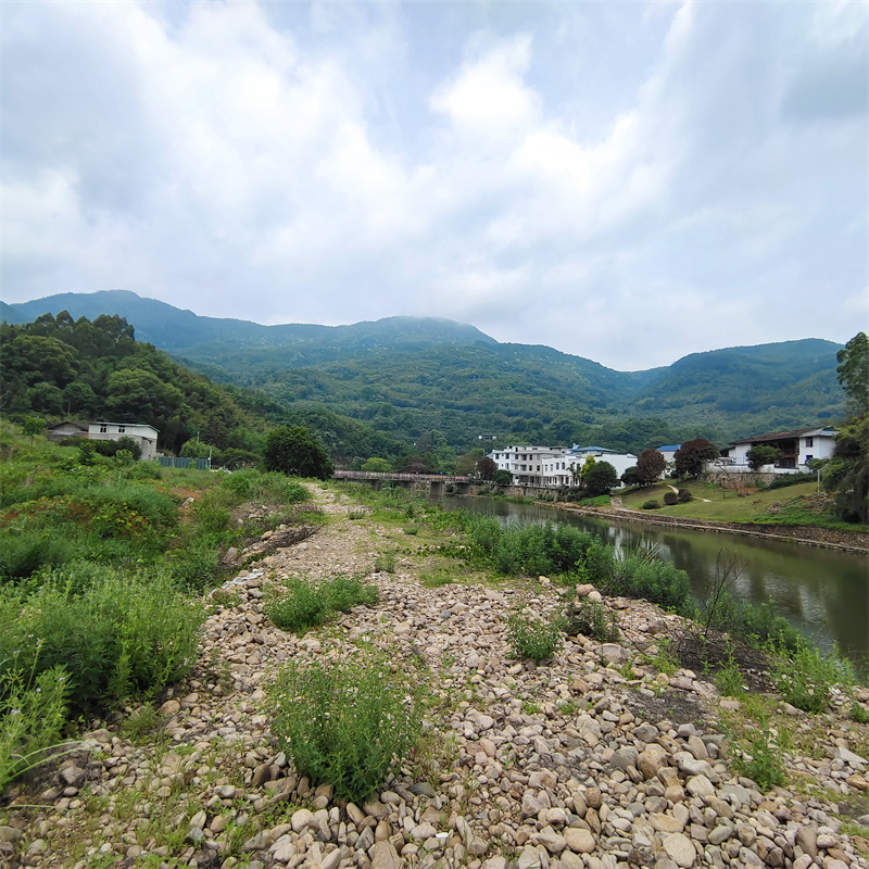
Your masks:
M212 379L255 389L293 419L320 418L314 427L348 449L335 431L351 425L347 417L388 437L392 454L394 441L411 450L428 440L462 452L478 445L479 433L639 452L697 436L726 442L826 423L844 407L835 375L841 345L817 339L696 353L628 373L546 347L501 344L450 320L261 326L199 317L125 291L67 293L0 314L29 322L61 310L121 314L137 337ZM324 407L333 413L331 428Z

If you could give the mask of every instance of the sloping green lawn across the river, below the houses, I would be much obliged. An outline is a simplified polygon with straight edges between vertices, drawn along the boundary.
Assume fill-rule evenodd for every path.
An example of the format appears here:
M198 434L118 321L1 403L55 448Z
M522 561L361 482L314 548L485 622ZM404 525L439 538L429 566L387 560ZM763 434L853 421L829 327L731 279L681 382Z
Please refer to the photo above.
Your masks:
M742 490L738 495L728 489L710 483L681 483L693 500L685 504L666 506L664 495L672 491L670 486L660 483L645 489L632 489L621 495L621 503L630 509L640 509L646 501L657 501L659 509L648 513L665 516L681 516L690 519L722 522L764 522L786 525L816 525L829 528L864 531L865 526L848 526L836 521L829 515L831 501L821 493L814 482L797 483L782 489Z

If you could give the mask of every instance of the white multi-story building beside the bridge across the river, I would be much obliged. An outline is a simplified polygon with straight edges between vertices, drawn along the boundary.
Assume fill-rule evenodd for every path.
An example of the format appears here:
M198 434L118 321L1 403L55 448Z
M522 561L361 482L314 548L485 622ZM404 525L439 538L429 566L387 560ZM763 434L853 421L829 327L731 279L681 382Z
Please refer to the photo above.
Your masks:
M618 453L604 446L506 446L489 453L499 470L511 473L514 486L552 489L576 486L589 456L595 462L608 462L619 477L637 465L632 453Z

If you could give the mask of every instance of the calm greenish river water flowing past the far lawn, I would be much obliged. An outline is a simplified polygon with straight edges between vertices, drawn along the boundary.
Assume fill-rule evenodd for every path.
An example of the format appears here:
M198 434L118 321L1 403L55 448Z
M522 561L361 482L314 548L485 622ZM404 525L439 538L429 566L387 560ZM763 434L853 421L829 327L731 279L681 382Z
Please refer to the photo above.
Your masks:
M602 520L537 504L502 499L436 499L446 509L465 507L502 521L567 522L621 545L640 538L657 543L660 556L684 570L694 594L703 600L716 576L722 547L740 566L731 594L777 612L821 648L833 643L867 675L869 660L869 557L779 540L744 538L709 531L672 530L664 526Z

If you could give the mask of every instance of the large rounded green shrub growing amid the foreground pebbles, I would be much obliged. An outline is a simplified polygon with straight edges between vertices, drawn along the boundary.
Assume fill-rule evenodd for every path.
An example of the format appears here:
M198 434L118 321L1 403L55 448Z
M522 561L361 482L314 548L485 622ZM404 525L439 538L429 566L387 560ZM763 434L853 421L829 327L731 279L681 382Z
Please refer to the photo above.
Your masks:
M394 666L394 665L393 665ZM419 734L413 675L382 655L326 665L291 662L269 692L272 732L300 776L362 804Z

